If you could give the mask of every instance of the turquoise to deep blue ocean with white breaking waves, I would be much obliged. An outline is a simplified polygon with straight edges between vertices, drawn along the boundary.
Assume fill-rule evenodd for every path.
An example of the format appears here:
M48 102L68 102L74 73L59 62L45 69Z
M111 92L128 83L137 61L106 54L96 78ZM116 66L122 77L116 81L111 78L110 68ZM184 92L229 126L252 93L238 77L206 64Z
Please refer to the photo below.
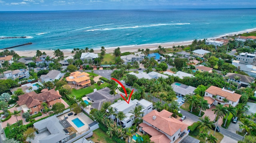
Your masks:
M256 9L0 12L0 49L118 47L191 41L256 28Z

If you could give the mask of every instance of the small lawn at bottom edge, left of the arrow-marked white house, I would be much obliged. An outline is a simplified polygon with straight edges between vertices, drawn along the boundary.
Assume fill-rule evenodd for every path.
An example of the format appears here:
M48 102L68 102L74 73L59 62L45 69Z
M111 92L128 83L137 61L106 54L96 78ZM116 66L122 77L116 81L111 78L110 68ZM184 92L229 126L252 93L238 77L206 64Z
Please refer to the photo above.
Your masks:
M116 143L101 129L94 130L92 137L89 139L92 139L94 143Z

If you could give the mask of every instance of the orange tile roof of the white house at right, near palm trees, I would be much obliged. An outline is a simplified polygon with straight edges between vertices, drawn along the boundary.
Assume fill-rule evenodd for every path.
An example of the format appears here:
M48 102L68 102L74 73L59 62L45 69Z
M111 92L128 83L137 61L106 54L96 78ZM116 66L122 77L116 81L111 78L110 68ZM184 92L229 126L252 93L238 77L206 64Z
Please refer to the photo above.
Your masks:
M240 97L242 96L241 94L236 94L234 91L226 90L224 88L218 88L216 86L210 86L205 92L208 92L212 95L218 95L225 97L227 100L237 102Z

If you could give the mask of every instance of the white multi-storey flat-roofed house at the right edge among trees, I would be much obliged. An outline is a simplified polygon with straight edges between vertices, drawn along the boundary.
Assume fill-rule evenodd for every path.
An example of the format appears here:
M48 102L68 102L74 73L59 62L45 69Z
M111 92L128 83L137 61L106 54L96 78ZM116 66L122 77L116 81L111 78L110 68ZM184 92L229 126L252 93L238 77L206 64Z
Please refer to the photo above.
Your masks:
M238 56L236 56L236 60L240 61L240 64L244 65L255 65L256 64L256 59L255 59L254 54L250 53L240 53Z

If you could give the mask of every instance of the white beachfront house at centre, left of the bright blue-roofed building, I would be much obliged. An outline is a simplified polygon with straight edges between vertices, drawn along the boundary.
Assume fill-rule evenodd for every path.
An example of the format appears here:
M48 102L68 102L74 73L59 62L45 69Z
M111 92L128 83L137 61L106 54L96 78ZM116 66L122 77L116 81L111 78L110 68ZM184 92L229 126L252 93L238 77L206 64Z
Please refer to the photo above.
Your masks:
M137 52L134 54L121 56L120 58L124 61L124 64L127 64L129 62L134 62L134 61L137 61L138 63L140 63L140 61L144 60L145 54L143 52Z

